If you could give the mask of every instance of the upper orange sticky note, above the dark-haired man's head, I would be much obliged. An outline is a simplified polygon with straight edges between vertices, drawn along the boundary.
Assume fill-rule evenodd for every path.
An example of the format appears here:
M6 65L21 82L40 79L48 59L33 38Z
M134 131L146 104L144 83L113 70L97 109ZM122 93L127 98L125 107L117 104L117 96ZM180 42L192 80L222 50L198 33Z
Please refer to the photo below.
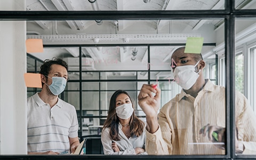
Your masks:
M44 52L43 39L27 39L26 47L27 47L27 53Z

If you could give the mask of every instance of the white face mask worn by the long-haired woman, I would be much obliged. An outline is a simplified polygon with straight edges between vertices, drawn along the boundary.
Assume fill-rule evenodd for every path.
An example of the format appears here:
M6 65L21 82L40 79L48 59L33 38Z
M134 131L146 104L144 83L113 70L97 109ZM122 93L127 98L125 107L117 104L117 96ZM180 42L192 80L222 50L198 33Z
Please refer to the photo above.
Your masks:
M132 113L132 103L124 103L123 105L116 107L117 117L121 119L127 119L131 117Z

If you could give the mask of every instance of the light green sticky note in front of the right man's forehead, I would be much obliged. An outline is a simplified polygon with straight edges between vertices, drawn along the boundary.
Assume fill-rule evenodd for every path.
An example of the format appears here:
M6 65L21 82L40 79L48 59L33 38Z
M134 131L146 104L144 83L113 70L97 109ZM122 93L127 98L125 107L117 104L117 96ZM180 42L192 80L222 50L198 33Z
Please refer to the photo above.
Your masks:
M203 37L188 37L184 52L200 54L202 51L203 42Z

